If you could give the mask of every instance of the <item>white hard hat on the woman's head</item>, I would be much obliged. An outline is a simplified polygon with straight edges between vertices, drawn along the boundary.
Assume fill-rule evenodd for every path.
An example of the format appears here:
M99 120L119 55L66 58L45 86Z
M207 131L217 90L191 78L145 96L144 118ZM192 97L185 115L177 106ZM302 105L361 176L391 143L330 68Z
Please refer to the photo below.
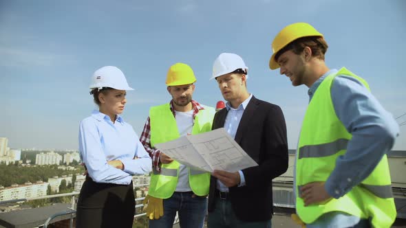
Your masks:
M117 67L107 66L95 71L89 89L103 89L110 87L118 90L134 90L129 87L124 73Z

